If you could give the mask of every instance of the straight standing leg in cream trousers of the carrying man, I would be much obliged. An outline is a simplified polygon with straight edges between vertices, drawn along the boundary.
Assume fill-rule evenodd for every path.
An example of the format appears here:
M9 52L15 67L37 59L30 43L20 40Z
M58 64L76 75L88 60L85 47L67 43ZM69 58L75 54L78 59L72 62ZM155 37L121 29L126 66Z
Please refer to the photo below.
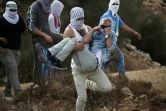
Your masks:
M72 71L76 90L77 90L77 102L76 102L76 111L84 111L85 103L87 101L87 93L85 88L85 81L87 74L81 73L77 69Z

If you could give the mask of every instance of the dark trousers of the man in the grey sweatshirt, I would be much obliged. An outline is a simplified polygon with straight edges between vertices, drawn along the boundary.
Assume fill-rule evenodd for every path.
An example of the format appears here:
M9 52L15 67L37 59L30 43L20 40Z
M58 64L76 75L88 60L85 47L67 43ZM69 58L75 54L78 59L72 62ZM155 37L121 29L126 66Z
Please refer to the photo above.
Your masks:
M52 37L53 39L53 45L59 43L62 39L63 39L63 35L60 33L53 33L53 32L49 32L48 35L50 37ZM42 71L42 63L40 62L40 60L38 59L38 53L35 49L35 45L36 43L40 43L44 48L48 46L47 41L45 40L44 37L40 37L40 36L33 36L32 37L32 44L33 44L33 50L34 50L34 70L33 70L33 79L34 79L34 83L36 84L36 82L38 80L40 80L41 78L41 71Z

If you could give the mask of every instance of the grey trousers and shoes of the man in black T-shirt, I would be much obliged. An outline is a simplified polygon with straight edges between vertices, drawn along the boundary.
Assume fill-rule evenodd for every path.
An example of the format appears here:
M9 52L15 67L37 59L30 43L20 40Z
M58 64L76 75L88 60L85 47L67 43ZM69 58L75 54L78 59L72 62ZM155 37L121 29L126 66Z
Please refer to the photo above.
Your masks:
M7 81L5 84L4 95L11 95L12 87L15 94L21 92L21 86L18 78L18 65L20 62L20 50L4 49L0 54L0 60L7 69Z

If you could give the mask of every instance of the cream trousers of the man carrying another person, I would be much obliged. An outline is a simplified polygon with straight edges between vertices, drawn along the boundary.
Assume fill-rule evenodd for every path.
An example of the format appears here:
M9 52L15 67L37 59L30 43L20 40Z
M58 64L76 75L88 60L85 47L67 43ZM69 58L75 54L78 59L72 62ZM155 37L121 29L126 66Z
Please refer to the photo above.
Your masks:
M82 73L75 68L72 70L72 74L78 95L76 111L84 111L87 101L86 89L100 92L109 92L112 90L111 82L99 67L91 73Z

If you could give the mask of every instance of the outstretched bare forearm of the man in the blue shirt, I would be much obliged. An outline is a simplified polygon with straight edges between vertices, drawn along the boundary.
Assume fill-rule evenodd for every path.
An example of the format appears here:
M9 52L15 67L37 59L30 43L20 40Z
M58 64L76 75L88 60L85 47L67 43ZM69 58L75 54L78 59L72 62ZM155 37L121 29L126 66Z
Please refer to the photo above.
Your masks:
M135 30L133 30L132 28L130 28L130 27L127 26L126 24L124 24L124 25L122 26L122 29L124 29L125 31L127 31L127 32L129 32L129 33L131 33L131 34L133 34L133 35L135 35L135 36L137 36L138 39L141 39L141 38L142 38L142 36L141 36L140 33L136 32Z

